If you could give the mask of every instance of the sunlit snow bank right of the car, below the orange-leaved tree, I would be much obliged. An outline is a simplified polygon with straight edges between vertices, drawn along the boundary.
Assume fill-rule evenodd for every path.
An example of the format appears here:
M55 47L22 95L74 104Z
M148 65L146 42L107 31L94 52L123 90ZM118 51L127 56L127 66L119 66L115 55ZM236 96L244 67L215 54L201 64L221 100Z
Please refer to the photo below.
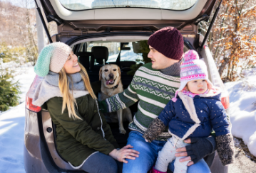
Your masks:
M256 68L243 72L244 79L225 83L230 94L232 135L242 138L256 156Z

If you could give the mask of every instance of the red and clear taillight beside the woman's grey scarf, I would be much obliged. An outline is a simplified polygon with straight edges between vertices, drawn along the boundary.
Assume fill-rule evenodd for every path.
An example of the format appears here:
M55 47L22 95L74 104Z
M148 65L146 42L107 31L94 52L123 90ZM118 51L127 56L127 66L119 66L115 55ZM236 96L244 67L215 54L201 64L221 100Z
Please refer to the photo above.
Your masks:
M43 80L43 77L39 77L36 75L33 83L31 84L29 91L26 94L26 108L28 108L30 111L39 112L41 111L40 106L35 106L32 104L33 101L33 95L36 91L36 86Z

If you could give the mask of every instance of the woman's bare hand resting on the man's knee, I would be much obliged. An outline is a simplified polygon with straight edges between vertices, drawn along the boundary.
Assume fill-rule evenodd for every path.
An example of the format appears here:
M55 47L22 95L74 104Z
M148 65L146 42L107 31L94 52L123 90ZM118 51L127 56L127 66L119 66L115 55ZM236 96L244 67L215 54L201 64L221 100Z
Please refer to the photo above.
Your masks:
M129 160L135 160L135 157L138 157L140 152L130 149L133 148L131 145L126 145L125 147L122 147L120 150L113 150L109 153L111 157L113 157L115 160L118 160L119 162L128 163L126 159Z

